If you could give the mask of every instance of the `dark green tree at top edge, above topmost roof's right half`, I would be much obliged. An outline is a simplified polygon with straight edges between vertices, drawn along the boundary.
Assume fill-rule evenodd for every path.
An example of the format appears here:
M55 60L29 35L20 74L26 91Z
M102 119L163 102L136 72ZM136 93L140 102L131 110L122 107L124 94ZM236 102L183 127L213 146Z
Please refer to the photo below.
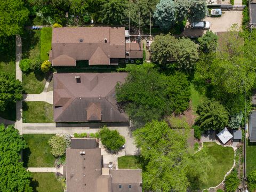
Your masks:
M102 11L102 22L108 25L123 25L125 17L125 9L127 8L126 0L109 0Z

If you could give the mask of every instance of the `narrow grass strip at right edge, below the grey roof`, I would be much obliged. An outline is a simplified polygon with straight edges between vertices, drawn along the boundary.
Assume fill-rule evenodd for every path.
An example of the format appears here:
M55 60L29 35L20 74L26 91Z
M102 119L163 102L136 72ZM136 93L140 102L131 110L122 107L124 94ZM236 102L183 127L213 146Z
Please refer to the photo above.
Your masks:
M256 143L246 140L246 173L256 170Z

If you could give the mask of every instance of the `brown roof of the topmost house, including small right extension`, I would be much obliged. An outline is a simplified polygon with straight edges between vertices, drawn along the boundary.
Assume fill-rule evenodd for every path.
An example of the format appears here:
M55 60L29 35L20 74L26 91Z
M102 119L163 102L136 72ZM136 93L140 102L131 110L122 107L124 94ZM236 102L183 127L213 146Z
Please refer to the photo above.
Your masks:
M53 28L53 67L76 66L76 61L89 65L118 65L119 59L142 59L143 44L126 42L124 27Z

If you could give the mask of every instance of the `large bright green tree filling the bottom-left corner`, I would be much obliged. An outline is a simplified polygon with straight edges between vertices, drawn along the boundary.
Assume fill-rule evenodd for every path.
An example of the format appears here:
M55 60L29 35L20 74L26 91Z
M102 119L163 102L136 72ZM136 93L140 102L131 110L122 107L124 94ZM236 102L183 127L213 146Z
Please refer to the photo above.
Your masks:
M33 191L29 186L31 174L23 167L23 162L20 162L20 152L26 147L26 142L13 125L5 128L0 124L1 191Z

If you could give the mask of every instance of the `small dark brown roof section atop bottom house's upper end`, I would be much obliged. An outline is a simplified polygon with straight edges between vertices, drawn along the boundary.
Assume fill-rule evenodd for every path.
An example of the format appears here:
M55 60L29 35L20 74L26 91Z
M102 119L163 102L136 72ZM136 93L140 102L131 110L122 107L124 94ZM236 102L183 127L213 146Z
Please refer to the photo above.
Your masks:
M96 149L97 142L93 138L71 138L72 149Z

